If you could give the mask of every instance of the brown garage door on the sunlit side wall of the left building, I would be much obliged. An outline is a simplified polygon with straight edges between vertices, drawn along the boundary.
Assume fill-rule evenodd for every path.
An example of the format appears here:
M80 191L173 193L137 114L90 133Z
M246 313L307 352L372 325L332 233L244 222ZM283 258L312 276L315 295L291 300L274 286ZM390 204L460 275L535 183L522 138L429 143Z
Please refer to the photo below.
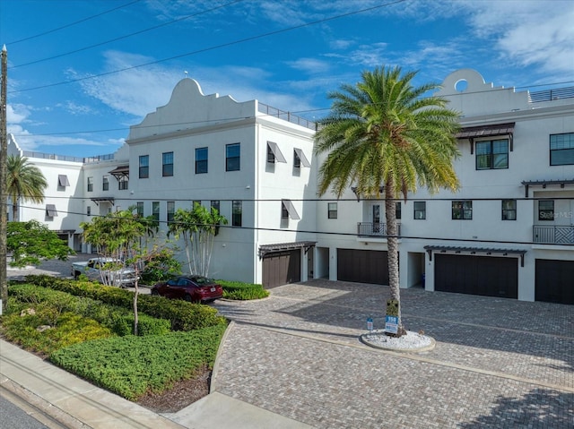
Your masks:
M263 286L265 288L295 283L300 279L300 249L265 254L263 258Z

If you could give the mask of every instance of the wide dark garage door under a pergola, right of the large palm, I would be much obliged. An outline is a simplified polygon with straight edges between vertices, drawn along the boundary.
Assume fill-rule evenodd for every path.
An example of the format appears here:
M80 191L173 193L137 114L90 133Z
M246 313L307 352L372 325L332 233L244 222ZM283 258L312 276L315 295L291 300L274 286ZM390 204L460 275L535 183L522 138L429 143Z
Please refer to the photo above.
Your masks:
M516 258L435 254L434 288L459 294L518 297Z

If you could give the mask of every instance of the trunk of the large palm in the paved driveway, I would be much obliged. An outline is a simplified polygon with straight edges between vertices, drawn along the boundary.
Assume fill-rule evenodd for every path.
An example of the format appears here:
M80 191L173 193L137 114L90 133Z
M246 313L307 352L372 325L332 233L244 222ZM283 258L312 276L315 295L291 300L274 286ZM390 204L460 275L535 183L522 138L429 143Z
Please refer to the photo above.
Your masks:
M396 301L398 330L397 337L406 333L401 317L401 289L398 277L398 227L396 226L396 203L393 194L393 184L385 184L385 218L387 220L387 257L388 257L388 286L390 287L391 299Z

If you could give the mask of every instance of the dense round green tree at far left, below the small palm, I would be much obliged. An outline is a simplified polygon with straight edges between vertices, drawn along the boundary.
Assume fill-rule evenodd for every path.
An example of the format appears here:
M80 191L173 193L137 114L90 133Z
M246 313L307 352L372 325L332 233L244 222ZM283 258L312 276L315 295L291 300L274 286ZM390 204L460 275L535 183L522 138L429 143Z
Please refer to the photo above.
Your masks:
M39 265L43 260L65 261L74 251L38 220L8 222L6 225L6 247L12 253L13 267Z

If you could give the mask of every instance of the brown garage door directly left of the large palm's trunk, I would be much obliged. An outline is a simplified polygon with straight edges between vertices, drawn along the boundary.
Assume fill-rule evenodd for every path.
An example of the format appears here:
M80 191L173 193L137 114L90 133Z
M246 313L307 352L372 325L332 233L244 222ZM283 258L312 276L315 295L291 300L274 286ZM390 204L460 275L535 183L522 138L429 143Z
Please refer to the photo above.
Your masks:
M388 285L387 252L337 249L337 279Z

